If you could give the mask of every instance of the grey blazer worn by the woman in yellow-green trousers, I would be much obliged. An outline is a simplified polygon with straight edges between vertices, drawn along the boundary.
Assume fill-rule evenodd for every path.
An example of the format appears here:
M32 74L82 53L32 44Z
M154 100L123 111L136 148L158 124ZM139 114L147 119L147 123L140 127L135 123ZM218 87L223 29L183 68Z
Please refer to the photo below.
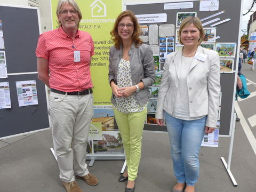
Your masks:
M134 43L128 53L130 55L130 67L132 74L132 85L138 84L141 81L144 83L144 89L138 93L135 92L135 96L141 106L145 105L149 99L148 86L151 86L155 82L155 69L154 58L151 47L147 44L141 44L138 48ZM119 62L123 57L122 45L119 50L115 46L111 46L109 51L109 73L108 81L111 82L114 79L117 82L117 68ZM112 94L111 102L114 103L114 94Z

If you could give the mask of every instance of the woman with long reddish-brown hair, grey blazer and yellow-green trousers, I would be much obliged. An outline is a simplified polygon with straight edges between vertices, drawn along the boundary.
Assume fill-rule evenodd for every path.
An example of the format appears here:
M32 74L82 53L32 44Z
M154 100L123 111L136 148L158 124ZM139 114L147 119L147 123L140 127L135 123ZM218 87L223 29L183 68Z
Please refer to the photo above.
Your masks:
M141 137L147 117L148 86L155 81L154 58L139 36L141 29L131 11L119 14L110 32L114 46L109 51L109 83L116 122L124 143L127 171L125 191L135 188L141 155Z

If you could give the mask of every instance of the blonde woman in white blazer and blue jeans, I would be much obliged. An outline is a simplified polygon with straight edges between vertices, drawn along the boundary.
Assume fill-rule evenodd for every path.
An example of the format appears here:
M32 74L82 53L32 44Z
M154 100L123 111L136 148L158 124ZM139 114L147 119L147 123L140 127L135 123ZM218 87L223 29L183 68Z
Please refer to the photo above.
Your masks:
M159 87L156 122L166 126L177 184L173 192L194 192L199 175L198 154L205 133L217 125L220 60L217 52L200 46L201 21L188 17L179 30L180 51L167 55Z

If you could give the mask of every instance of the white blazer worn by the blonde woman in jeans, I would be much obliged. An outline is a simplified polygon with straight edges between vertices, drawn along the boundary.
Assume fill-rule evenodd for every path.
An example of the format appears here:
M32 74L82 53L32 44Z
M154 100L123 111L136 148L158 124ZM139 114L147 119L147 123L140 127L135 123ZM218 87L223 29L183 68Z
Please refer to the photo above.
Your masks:
M207 115L206 126L216 127L220 94L220 59L217 52L198 46L205 61L193 59L187 76L189 116ZM158 92L156 118L163 119L164 110L172 115L179 87L182 51L167 55Z

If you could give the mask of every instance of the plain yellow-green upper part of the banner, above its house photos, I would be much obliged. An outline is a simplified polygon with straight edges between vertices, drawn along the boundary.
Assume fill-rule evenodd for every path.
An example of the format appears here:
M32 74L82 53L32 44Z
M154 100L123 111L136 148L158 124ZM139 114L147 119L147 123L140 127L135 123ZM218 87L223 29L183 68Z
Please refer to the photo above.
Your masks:
M76 0L83 18L79 30L92 35L94 56L91 62L93 97L95 106L111 105L111 89L108 83L108 52L113 45L110 31L119 13L122 11L122 0ZM53 29L58 28L56 9L58 0L52 0Z

